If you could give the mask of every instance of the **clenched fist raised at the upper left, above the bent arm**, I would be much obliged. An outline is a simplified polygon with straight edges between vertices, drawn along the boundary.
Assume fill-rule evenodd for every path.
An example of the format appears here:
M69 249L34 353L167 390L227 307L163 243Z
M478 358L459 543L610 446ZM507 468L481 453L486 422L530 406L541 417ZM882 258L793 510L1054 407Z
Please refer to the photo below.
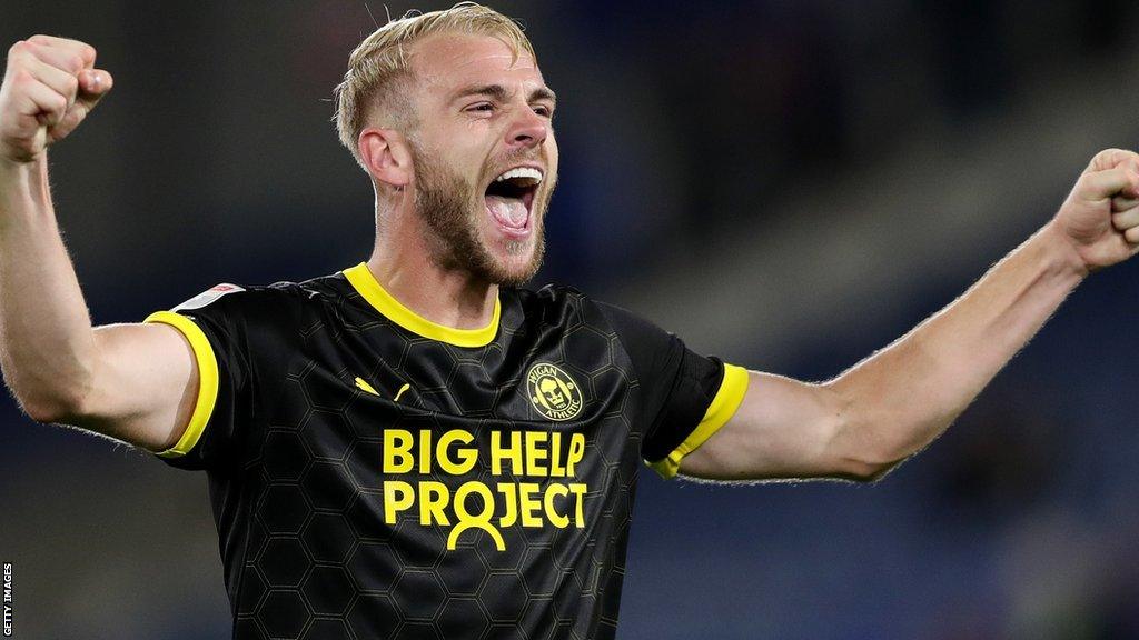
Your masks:
M50 35L13 44L0 85L0 161L33 162L83 122L112 85L95 55L89 44Z

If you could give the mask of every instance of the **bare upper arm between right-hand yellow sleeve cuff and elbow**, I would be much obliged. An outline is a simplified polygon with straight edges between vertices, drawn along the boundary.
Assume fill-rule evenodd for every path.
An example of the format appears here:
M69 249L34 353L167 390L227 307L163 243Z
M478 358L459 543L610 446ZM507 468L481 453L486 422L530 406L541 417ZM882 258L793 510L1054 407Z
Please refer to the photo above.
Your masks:
M685 457L680 473L720 479L861 477L854 460L836 453L842 401L826 385L748 371L735 415Z

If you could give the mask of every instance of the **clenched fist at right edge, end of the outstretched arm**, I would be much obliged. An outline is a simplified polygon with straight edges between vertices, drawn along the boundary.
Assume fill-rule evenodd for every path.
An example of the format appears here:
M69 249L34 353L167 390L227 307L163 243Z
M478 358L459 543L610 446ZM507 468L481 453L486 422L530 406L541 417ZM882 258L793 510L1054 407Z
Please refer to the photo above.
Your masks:
M1139 253L1139 154L1096 154L1052 220L1088 271Z

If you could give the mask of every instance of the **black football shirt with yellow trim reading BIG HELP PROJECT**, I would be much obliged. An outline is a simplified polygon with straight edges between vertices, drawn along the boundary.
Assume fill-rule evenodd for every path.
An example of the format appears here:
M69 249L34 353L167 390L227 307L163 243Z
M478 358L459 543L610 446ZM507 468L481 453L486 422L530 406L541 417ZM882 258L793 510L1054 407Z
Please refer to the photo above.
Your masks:
M146 319L199 370L233 638L612 638L637 476L731 418L746 371L566 287L435 325L361 263Z

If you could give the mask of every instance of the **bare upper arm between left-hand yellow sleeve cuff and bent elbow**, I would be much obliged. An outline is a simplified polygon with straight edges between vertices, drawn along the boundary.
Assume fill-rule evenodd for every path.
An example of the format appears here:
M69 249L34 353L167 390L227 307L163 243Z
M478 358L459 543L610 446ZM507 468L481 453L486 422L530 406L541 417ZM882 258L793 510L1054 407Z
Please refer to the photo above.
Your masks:
M97 366L75 426L164 451L194 412L198 367L187 338L162 323L95 329Z

